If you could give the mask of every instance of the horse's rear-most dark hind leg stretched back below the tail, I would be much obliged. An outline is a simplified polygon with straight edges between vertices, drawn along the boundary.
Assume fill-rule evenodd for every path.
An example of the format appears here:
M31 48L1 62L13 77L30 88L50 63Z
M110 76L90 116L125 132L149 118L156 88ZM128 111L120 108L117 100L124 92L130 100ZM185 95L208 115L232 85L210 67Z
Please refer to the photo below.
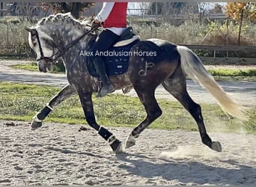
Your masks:
M177 71L169 79L165 80L162 86L166 91L171 93L195 119L198 124L202 142L211 149L221 152L221 144L219 144L218 141L212 141L209 135L207 135L204 119L201 114L201 106L195 103L186 91L186 78L183 76L181 69L177 68Z

